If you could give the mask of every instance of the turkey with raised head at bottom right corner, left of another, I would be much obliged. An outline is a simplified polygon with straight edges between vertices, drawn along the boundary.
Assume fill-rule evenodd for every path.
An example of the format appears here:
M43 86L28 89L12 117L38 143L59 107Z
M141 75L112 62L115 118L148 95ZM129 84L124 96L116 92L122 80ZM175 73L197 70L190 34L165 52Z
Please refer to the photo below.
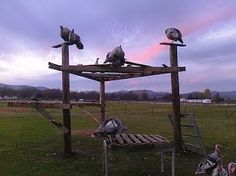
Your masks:
M218 162L221 159L221 148L222 146L220 144L215 145L214 153L208 154L202 159L201 163L198 165L195 175L210 173L217 167Z

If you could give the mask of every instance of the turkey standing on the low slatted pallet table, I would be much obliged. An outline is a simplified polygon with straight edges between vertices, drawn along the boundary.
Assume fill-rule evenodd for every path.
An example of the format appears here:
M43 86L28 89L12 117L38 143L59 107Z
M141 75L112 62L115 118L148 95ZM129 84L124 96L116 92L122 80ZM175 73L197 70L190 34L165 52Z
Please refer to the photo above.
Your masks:
M116 134L119 134L124 130L127 130L127 127L121 122L119 118L109 118L101 123L101 125L92 134L92 137L111 136L114 139Z

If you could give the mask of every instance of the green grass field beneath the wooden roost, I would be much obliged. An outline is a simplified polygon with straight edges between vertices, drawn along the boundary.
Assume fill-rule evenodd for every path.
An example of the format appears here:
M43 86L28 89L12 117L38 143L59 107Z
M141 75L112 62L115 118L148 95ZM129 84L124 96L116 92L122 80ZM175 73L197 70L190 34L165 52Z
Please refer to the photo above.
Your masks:
M152 109L153 107L153 109ZM224 106L186 105L183 113L194 113L203 134L207 152L216 143L223 145L223 162L236 161L236 113L226 119ZM236 106L228 108L228 114ZM89 108L99 115L98 108ZM60 110L50 110L61 121ZM1 176L100 176L102 175L102 140L90 137L97 127L88 115L72 109L73 151L63 159L62 131L33 109L10 109L0 104L0 175ZM172 127L170 104L108 103L107 116L121 118L130 133L160 134L169 139ZM193 153L176 155L176 175L194 175L202 156ZM111 175L160 175L160 157L155 151L112 153ZM170 175L170 157L166 157L166 175Z

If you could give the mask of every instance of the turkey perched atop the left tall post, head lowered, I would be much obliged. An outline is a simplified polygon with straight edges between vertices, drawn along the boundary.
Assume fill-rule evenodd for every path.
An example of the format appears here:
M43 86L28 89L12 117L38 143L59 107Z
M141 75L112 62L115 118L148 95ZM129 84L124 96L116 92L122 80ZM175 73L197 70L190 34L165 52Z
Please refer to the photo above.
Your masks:
M78 49L84 48L84 45L80 40L80 36L74 32L74 29L71 31L69 28L63 26L60 26L60 29L60 36L65 42L67 42L69 45L75 44Z

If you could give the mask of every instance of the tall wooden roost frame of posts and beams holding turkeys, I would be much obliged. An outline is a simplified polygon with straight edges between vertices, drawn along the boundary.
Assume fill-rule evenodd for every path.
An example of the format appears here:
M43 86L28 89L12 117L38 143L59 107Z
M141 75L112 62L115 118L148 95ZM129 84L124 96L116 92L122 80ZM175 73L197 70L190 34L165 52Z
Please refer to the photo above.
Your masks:
M64 130L64 153L66 155L72 154L71 148L71 116L70 109L73 102L70 101L70 82L69 74L85 77L91 80L98 81L100 83L100 101L99 103L89 104L100 106L100 119L102 122L105 119L105 83L107 81L122 80L130 78L138 78L144 76L171 74L171 87L173 97L173 124L174 124L174 145L175 150L179 152L182 146L181 139L181 121L180 121L180 96L179 96L179 78L178 72L185 71L185 67L178 66L177 59L177 47L185 46L182 44L175 43L161 43L161 45L170 46L170 67L152 67L148 65L133 63L126 61L126 65L122 67L114 67L112 65L96 64L96 65L70 65L69 64L69 45L65 42L59 45L53 46L54 48L62 49L62 65L54 64L49 62L49 68L62 72L62 98L63 101L55 104L51 103L40 103L40 102L21 102L20 106L31 106L36 108L43 116L49 119L52 117L46 113L42 108L50 108L55 106L61 108L63 112L63 129ZM83 105L88 105L85 103ZM18 104L11 104L10 106L19 106ZM81 104L82 106L82 104ZM54 122L54 120L50 120ZM57 125L58 126L58 125ZM59 125L60 126L60 125Z

